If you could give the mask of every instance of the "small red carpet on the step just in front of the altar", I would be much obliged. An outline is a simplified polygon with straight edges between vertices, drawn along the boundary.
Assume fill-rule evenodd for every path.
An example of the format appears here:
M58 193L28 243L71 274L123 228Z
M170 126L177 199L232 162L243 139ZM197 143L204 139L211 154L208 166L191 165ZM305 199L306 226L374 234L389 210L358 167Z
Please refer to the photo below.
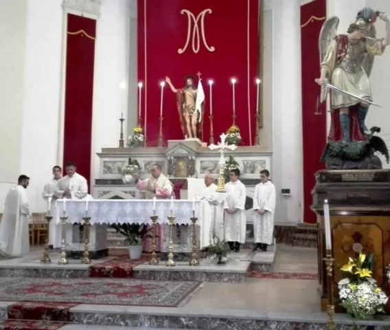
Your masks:
M128 256L119 256L111 261L91 265L89 267L89 277L110 277L110 278L131 278L133 268L149 260L148 255L141 256L141 259L130 260Z

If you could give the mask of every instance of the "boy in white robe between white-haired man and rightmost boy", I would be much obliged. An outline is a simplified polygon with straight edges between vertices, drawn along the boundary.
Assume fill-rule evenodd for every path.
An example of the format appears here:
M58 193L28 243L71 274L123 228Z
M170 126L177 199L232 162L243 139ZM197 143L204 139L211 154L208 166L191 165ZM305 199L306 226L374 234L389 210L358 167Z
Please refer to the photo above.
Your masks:
M246 234L246 190L238 177L240 177L240 170L230 170L230 182L225 184L229 195L224 203L225 239L229 243L230 250L236 252L240 251L240 243L245 243Z

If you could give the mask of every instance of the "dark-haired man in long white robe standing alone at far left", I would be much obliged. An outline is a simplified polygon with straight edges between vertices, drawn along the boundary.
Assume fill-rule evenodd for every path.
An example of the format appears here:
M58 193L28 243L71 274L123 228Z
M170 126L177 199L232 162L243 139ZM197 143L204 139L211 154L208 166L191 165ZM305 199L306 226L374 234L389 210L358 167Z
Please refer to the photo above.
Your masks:
M18 185L5 197L0 223L0 254L8 258L25 256L30 252L28 220L30 217L26 188L30 177L19 176Z

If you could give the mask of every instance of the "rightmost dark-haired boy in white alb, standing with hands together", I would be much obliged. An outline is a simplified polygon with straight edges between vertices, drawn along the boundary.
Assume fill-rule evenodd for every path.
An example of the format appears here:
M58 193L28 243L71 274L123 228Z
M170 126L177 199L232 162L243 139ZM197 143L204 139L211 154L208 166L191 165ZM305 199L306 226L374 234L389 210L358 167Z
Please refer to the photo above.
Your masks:
M255 187L253 195L253 232L255 248L253 251L266 251L273 243L273 216L275 213L275 186L269 181L269 171L260 172L260 184Z

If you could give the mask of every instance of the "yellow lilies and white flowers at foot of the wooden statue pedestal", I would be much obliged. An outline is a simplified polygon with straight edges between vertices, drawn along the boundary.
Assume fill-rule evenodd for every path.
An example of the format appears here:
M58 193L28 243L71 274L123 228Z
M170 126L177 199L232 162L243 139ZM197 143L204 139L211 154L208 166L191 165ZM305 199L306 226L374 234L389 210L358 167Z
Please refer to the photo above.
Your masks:
M387 296L371 278L372 258L374 254L359 254L358 258L349 258L341 267L343 279L339 282L341 306L347 313L360 320L369 320L378 312L383 312Z

